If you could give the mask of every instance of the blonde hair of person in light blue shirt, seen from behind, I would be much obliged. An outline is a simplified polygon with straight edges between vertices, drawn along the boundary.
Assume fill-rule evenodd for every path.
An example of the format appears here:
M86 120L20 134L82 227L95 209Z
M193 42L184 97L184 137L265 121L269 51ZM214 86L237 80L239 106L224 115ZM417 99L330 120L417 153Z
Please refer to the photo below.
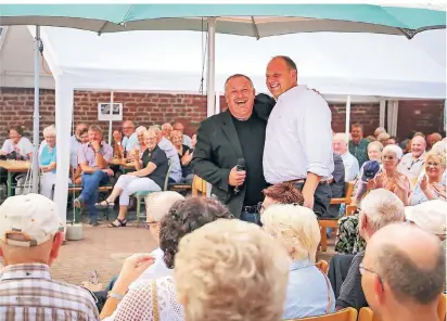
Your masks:
M266 232L277 237L293 259L316 261L321 234L314 210L297 205L272 205L261 220Z

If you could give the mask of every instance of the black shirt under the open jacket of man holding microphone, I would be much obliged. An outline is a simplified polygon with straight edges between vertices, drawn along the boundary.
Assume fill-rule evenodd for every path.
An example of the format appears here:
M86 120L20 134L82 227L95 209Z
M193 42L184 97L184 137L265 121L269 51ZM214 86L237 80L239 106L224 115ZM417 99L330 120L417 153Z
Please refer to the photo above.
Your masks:
M267 187L264 178L263 154L267 123L253 113L247 120L233 117L242 153L245 158L244 206L253 206L263 201L263 190Z

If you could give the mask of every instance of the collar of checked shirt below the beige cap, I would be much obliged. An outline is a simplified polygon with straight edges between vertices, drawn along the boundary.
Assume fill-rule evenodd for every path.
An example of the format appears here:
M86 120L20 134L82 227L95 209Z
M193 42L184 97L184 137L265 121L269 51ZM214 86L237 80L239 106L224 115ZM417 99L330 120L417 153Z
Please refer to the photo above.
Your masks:
M18 264L4 267L0 273L0 281L15 279L51 280L50 268L43 264Z

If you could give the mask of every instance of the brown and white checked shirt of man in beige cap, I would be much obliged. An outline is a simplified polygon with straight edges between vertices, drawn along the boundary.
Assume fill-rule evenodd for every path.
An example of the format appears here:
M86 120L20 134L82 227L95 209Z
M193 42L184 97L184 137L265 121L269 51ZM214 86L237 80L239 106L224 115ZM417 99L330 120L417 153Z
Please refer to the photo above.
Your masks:
M91 294L51 279L42 264L7 266L0 272L0 320L99 320Z

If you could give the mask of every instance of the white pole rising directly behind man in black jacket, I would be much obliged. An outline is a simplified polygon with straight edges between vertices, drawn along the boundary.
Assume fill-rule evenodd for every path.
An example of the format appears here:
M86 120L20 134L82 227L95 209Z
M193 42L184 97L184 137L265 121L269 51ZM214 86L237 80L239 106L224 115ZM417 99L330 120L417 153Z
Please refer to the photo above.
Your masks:
M210 117L215 114L216 102L216 18L210 17L208 23L208 52L207 52L207 75L206 75L206 116Z

